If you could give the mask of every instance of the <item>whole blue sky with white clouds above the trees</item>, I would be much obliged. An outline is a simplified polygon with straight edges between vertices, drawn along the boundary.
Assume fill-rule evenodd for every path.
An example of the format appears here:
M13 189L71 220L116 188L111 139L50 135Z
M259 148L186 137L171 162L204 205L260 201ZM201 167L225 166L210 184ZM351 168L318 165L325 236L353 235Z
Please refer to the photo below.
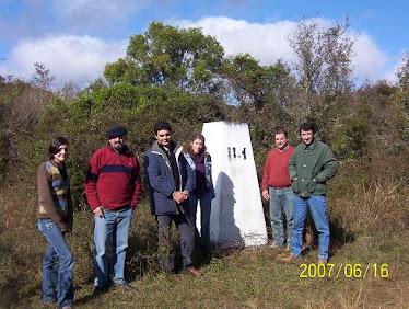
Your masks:
M296 23L315 19L325 26L349 16L355 81L394 82L409 49L407 12L407 0L0 0L0 75L28 79L40 62L58 83L86 85L152 21L201 27L226 55L291 64L288 36Z

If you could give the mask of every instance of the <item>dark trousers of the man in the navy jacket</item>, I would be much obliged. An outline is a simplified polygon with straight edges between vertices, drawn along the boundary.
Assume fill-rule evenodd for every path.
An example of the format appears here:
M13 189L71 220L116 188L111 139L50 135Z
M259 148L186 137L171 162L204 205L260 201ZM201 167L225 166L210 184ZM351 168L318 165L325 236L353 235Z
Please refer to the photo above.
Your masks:
M159 232L159 263L162 271L175 273L175 252L171 244L171 226L175 222L180 234L180 250L184 270L194 267L194 247L195 247L195 227L186 214L178 215L157 215Z

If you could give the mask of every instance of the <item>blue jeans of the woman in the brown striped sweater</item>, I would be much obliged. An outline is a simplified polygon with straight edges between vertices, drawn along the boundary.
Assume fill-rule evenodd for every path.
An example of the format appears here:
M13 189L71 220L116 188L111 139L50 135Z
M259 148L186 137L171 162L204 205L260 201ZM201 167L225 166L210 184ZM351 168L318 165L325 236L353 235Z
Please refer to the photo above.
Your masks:
M74 291L71 250L60 228L51 219L38 219L37 227L47 240L43 261L43 301L47 304L57 301L59 307L72 306ZM58 259L60 260L59 267Z

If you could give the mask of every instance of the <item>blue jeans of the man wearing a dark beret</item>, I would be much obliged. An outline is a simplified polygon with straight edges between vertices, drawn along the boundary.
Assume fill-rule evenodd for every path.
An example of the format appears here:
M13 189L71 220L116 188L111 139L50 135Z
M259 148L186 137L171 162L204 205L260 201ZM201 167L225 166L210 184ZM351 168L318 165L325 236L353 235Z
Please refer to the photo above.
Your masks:
M104 217L94 215L95 281L103 288L108 284L109 274L114 284L124 283L125 259L128 248L128 233L133 210L126 207L120 210L103 208ZM108 252L112 244L112 263L108 270Z

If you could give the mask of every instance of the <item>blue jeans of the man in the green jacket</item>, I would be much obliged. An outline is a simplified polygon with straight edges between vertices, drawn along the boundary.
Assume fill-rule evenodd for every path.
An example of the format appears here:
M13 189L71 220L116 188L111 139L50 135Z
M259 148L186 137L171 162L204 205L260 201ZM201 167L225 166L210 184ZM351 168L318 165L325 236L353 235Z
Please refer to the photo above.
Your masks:
M318 231L318 259L328 259L329 224L327 219L327 197L325 195L312 195L309 197L294 196L294 228L291 241L292 254L295 256L301 255L304 222L308 209L313 217L315 228Z

